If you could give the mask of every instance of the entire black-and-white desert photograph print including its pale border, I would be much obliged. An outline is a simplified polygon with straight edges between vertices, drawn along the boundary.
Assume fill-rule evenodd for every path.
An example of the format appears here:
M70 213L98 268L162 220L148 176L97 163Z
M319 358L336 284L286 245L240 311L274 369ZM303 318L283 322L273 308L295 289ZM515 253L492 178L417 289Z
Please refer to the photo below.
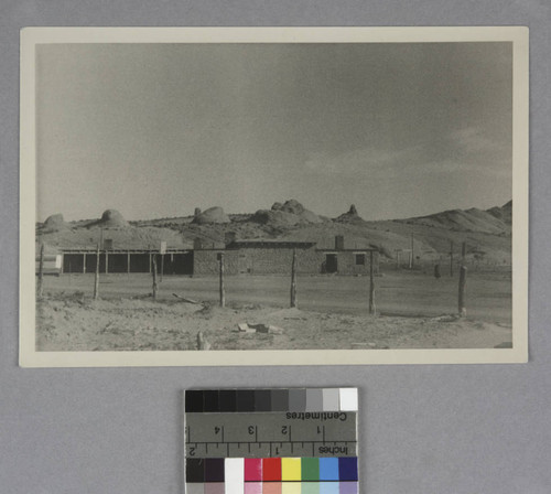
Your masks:
M21 365L527 359L522 28L35 28L21 75Z

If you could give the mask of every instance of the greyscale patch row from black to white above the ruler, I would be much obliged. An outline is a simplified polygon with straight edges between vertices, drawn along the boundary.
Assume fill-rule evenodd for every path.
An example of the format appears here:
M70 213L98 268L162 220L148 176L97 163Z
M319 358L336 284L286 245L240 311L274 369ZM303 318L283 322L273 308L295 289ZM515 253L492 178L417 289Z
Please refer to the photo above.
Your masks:
M187 389L186 412L357 411L357 388Z

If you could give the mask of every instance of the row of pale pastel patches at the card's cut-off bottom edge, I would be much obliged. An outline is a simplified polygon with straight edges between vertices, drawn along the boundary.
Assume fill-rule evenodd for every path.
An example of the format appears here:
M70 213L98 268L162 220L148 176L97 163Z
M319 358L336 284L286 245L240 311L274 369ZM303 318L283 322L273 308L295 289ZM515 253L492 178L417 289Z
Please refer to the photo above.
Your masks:
M358 494L357 482L245 482L186 484L185 494Z

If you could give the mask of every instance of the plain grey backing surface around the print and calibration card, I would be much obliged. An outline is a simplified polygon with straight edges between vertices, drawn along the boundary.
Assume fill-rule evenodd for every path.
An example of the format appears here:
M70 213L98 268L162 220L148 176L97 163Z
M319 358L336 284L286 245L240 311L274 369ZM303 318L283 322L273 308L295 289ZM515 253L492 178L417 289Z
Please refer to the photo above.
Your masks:
M18 367L19 30L25 25L530 28L530 363L281 368ZM361 493L551 492L551 3L547 0L3 0L0 7L0 492L181 492L181 390L361 391Z

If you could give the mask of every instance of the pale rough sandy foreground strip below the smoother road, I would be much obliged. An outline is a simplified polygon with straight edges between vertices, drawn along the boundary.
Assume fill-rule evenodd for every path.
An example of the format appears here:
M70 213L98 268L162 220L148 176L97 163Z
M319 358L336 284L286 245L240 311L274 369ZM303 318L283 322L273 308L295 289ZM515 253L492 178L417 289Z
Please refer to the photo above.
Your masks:
M239 331L242 323L270 330ZM50 297L36 304L37 351L198 350L199 332L202 350L493 348L511 342L510 324L446 314L371 316L150 298Z

